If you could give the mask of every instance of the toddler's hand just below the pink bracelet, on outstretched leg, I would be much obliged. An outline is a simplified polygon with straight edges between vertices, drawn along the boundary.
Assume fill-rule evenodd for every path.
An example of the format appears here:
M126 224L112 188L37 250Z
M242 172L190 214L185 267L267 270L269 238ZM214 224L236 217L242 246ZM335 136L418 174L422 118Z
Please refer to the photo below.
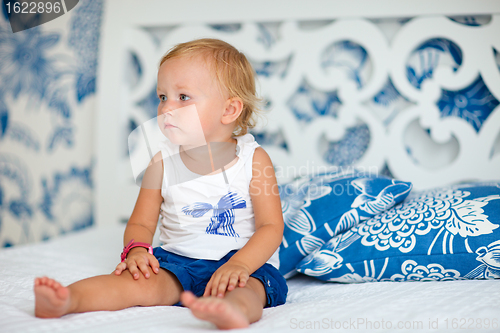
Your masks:
M115 274L120 275L124 270L128 269L134 280L139 279L139 271L147 279L149 278L148 266L151 266L153 272L158 274L160 270L158 259L154 255L149 254L146 249L136 247L130 250L127 260L116 266Z

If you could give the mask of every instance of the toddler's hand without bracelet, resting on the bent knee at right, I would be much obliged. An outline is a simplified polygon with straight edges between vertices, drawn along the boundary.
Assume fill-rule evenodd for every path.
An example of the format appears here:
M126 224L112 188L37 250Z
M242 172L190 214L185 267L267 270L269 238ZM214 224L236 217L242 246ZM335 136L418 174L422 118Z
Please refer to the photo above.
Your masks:
M224 297L227 291L243 288L250 277L248 268L240 263L226 262L214 272L203 296Z

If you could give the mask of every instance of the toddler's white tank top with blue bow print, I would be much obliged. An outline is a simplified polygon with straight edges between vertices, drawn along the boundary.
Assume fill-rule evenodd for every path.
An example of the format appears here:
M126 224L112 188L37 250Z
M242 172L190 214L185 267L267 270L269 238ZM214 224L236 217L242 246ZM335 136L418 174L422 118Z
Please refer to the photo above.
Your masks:
M204 176L184 165L179 145L169 140L160 143L160 241L164 250L190 258L219 260L231 250L241 249L254 234L249 189L253 154L259 144L251 134L236 140L237 162L224 173ZM278 250L268 263L279 268Z

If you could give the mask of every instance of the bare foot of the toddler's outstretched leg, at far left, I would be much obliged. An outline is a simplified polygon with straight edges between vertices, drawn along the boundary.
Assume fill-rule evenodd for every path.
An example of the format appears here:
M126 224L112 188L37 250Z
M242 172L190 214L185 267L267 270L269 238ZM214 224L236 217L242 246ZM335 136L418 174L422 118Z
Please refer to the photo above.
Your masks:
M48 277L35 279L35 316L59 318L70 305L69 289Z

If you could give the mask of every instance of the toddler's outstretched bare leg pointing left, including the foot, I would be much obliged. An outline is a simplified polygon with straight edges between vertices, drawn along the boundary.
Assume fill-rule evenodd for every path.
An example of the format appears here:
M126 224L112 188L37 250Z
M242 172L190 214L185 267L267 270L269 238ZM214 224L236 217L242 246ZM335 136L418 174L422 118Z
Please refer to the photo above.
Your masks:
M49 278L35 279L35 315L61 317L68 313L120 310L131 306L172 305L179 301L182 286L170 272L149 269L134 280L128 270L121 275L95 276L61 286Z

